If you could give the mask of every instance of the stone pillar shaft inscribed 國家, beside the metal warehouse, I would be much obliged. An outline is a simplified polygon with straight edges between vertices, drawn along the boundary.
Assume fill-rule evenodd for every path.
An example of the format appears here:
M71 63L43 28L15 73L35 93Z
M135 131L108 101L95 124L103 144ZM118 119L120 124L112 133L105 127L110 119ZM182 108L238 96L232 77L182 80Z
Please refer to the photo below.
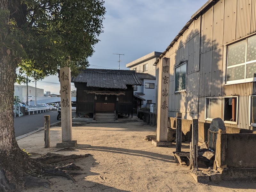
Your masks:
M158 142L167 141L168 103L170 82L170 58L162 58L159 62L158 103L157 103L157 133Z

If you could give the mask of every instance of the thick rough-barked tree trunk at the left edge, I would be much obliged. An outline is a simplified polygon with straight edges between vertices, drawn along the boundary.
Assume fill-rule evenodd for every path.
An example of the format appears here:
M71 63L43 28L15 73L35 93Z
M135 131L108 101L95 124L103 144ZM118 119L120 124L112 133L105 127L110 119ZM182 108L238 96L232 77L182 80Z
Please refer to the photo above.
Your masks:
M23 166L28 156L20 150L15 140L13 125L13 92L20 58L12 55L12 50L3 46L8 40L11 41L8 39L8 21L14 19L18 26L24 24L22 9L19 0L0 0L0 11L4 13L1 14L0 22L5 26L0 33L0 191L16 190L17 185L22 186L20 174L23 172L20 170L28 168ZM8 10L10 14L3 10Z

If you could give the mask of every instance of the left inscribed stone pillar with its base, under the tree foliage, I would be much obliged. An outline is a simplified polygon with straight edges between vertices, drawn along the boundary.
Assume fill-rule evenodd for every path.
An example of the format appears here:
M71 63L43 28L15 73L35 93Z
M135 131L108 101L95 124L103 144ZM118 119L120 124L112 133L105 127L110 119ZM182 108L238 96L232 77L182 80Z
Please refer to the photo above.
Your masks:
M60 68L60 103L61 103L61 143L58 148L75 147L76 140L72 140L71 119L71 81L70 68Z

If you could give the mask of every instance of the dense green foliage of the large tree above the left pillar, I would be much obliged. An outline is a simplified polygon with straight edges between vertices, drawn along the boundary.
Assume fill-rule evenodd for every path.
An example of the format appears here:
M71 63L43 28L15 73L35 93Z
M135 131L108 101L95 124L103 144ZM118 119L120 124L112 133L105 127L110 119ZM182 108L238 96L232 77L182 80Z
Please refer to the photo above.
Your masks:
M103 32L104 0L22 0L21 5L27 8L22 25L0 11L0 18L9 16L8 22L0 19L1 37L8 34L0 48L18 60L18 82L26 81L24 73L38 80L63 66L73 74L88 67Z

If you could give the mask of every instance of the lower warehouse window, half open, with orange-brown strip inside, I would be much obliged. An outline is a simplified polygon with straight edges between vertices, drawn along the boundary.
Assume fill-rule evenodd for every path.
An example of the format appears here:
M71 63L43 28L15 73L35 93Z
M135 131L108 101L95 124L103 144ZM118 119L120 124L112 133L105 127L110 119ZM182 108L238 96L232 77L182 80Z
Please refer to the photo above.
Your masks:
M206 98L205 119L220 117L224 122L237 123L237 97Z

